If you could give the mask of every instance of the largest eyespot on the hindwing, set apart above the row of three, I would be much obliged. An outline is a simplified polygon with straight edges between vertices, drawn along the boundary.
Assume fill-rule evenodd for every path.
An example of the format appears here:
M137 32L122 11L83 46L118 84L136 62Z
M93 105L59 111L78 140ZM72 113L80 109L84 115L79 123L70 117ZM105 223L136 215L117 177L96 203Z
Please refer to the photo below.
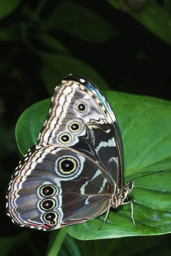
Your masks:
M68 175L75 172L77 167L78 163L72 157L66 157L58 161L59 172L61 172L63 175Z

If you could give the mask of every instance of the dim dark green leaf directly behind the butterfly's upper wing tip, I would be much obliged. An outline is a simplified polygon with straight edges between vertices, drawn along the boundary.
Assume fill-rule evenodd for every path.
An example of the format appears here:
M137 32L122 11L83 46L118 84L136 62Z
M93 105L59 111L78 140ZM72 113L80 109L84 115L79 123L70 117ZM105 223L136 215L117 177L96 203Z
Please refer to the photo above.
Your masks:
M81 74L98 84L99 89L109 89L104 79L88 64L68 54L40 53L42 57L41 77L50 95L61 80L69 74Z

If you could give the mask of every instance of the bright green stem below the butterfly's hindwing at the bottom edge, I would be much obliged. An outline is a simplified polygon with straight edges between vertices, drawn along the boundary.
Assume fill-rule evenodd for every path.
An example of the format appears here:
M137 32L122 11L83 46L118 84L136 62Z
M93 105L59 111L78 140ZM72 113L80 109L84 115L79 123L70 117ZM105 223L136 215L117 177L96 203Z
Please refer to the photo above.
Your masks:
M47 256L57 256L58 252L61 248L61 245L67 235L66 228L61 228L58 232L58 235L56 236Z

